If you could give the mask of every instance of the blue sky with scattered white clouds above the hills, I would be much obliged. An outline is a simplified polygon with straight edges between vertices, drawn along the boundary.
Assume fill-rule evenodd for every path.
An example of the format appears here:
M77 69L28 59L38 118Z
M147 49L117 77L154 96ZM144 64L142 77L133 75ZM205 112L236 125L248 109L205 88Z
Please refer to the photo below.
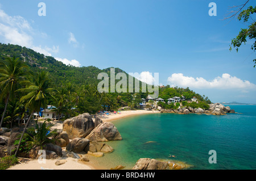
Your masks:
M39 2L46 4L46 16L38 15ZM217 16L209 16L210 2ZM243 2L0 1L0 42L76 66L159 73L161 85L188 86L212 102L256 103L253 41L230 52L246 24L222 20L229 7Z

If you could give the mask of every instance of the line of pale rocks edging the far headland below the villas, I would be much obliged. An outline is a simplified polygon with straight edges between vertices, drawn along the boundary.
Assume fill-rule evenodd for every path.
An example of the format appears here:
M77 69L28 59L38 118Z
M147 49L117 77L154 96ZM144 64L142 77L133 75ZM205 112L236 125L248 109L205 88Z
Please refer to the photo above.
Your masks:
M161 113L206 113L212 115L226 115L226 113L235 113L234 110L231 110L229 106L223 106L220 103L209 104L209 110L203 110L202 108L192 108L192 107L179 107L177 110L160 110Z

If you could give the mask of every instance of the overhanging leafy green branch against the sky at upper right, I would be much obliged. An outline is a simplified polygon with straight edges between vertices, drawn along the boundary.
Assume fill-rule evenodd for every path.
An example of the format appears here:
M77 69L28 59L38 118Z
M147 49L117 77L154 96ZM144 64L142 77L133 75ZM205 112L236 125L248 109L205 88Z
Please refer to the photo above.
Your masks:
M250 6L246 10L243 10L238 15L238 20L243 20L243 23L247 23L249 18L252 18L252 15L256 12L256 6ZM253 20L252 23L249 23L248 28L242 28L239 32L238 36L232 39L232 43L230 45L230 50L232 50L232 46L236 48L238 52L238 48L241 46L242 43L246 43L247 38L256 40L256 22ZM251 49L255 52L256 50L256 41L254 41L253 45L251 45ZM256 66L256 59L254 61L254 68Z

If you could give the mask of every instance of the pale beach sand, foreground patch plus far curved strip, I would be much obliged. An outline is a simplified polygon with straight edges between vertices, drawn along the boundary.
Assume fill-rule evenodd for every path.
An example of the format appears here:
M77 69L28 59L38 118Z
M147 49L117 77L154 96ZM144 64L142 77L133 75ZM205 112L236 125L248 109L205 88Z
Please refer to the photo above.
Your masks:
M136 110L136 111L121 111L121 113L110 113L110 115L102 115L102 121L114 121L122 119L124 117L143 115L148 113L160 113L160 111L145 111L145 110ZM52 129L63 129L63 121L51 121L53 124ZM65 148L63 149L65 150ZM106 168L102 167L95 161L95 159L90 159L93 156L84 154L89 158L89 162L81 162L78 159L71 157L64 157L59 159L47 159L46 163L39 163L38 159L28 161L27 163L20 163L13 167L10 167L7 170L43 170L43 169L53 169L53 170L105 170ZM60 159L65 159L63 165L55 165L55 162ZM99 158L100 159L100 158Z

